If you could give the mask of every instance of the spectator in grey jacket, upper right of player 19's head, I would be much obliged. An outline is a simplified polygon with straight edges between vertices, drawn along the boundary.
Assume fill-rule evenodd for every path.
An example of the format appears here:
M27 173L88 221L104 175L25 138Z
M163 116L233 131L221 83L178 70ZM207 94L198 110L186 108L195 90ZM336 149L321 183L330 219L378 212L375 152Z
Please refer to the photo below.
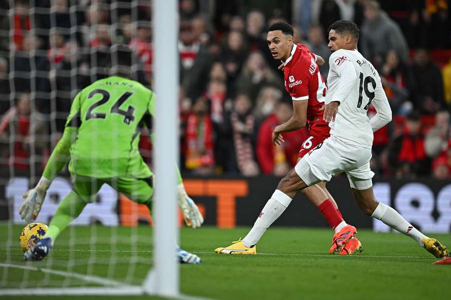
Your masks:
M407 42L399 26L381 11L376 1L365 4L365 21L360 29L360 47L362 54L380 68L387 52L396 50L399 59L408 60Z

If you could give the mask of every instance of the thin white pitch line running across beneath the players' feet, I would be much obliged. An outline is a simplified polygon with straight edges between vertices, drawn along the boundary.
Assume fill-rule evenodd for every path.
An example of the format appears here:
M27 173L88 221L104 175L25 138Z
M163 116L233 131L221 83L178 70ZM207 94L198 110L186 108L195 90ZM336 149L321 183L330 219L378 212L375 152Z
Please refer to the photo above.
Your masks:
M16 248L0 248L0 250L17 250ZM126 252L126 253L152 253L152 250L93 250L93 249L53 249L52 251L61 252ZM214 252L192 252L194 254L213 254ZM317 254L317 253L257 253L257 255L277 255L277 256L320 256L320 257L343 257L347 255L331 255L331 254ZM351 257L376 257L376 258L425 258L435 259L429 256L408 256L408 255L365 255L356 254L349 255Z

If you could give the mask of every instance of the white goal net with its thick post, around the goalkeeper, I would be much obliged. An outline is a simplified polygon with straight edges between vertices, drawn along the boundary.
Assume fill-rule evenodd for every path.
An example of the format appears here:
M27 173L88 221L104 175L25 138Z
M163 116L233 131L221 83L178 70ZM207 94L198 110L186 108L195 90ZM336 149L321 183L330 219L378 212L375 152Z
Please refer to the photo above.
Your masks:
M164 168L173 165L178 148L176 91L164 87L177 78L175 13L176 0L0 4L0 295L178 294L175 170ZM151 40L163 46L152 50ZM135 79L152 84L156 94L164 91L166 99L165 107L156 104L154 125L154 172L161 178L154 195L157 225L151 226L146 206L103 185L46 259L24 262L19 236L26 223L18 213L22 194L41 177L75 95L107 76L108 50L115 44L129 45L137 58ZM155 79L152 57L153 70L164 69ZM148 136L142 138L145 144ZM142 151L149 159L149 150ZM49 224L71 190L65 167L52 182L36 222Z

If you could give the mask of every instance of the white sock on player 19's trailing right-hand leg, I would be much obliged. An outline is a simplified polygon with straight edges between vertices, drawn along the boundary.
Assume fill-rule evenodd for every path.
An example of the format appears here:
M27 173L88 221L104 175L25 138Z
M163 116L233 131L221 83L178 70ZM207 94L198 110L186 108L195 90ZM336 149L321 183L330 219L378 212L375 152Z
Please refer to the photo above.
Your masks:
M379 203L371 217L381 220L394 230L410 236L418 243L418 245L424 247L424 243L421 239L427 238L427 236L419 232L412 224L407 222L397 211L388 205Z

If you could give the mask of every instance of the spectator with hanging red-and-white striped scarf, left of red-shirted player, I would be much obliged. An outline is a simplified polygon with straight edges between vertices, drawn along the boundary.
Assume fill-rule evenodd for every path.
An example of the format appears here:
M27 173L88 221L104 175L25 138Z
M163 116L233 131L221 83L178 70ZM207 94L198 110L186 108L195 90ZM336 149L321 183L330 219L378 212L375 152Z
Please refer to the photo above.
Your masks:
M255 160L256 121L252 115L252 102L247 94L241 93L235 99L234 108L227 119L226 127L232 132L234 151L233 165L230 169L239 170L244 176L256 176L260 173Z

